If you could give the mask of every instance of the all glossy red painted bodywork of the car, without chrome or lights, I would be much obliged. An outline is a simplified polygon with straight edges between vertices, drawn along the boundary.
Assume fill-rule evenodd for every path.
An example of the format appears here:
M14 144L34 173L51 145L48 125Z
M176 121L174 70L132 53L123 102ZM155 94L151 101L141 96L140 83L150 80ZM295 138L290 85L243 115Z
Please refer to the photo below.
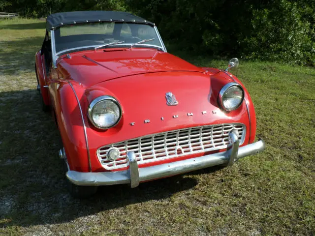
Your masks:
M98 148L194 126L243 123L247 129L243 145L254 141L256 118L252 100L242 83L228 72L199 68L155 49L106 49L69 55L70 58L63 56L58 59L57 68L51 70L47 81L47 101L55 113L70 170L108 171L96 156ZM36 68L43 91L40 61L37 53ZM225 84L234 81L243 86L245 101L238 109L224 112L218 105L218 95ZM166 105L165 93L169 91L176 94L177 106ZM89 104L102 95L115 97L123 112L119 123L107 130L95 128L87 117ZM202 114L202 111L207 113ZM188 116L188 113L193 113L193 116ZM178 118L173 118L174 115ZM150 119L150 123L145 123L145 119ZM131 122L134 125L130 125ZM209 152L150 162L139 165L139 168L204 154ZM124 168L113 171L119 170Z

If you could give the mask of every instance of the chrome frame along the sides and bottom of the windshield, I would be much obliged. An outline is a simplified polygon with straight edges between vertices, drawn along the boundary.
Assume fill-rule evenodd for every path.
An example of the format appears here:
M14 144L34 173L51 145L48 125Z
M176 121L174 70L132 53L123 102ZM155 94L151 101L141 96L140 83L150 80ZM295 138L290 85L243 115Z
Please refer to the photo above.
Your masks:
M160 43L161 46L157 46L157 45L153 45L153 44L137 44L135 46L140 46L140 47L147 47L147 48L156 48L156 49L161 49L163 52L167 53L166 51L166 47L162 41L162 38L158 32L158 28L157 26L154 27L155 29L155 32L158 36L158 41ZM69 48L69 49L66 49L66 50L62 50L60 52L56 52L56 42L55 42L55 29L51 29L50 30L50 40L51 40L51 53L52 53L52 60L53 60L53 67L54 68L57 68L57 59L60 57L60 55L63 55L63 54L66 54L67 52L71 52L71 51L76 51L76 50L80 50L82 49L83 50L89 50L89 48L95 48L97 46L100 46L101 44L98 44L98 45L91 45L91 46L84 46L84 47L76 47L76 48ZM123 44L116 44L116 45L113 45L114 46L130 46L132 45L132 43L123 43Z

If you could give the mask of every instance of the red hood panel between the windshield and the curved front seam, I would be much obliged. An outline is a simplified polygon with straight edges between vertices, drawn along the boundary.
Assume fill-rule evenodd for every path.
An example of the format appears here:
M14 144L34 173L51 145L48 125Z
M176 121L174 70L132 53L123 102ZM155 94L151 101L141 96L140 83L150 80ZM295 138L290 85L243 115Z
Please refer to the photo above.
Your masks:
M58 59L63 78L86 87L136 74L164 71L195 71L201 68L171 54L153 49L98 50L72 53Z

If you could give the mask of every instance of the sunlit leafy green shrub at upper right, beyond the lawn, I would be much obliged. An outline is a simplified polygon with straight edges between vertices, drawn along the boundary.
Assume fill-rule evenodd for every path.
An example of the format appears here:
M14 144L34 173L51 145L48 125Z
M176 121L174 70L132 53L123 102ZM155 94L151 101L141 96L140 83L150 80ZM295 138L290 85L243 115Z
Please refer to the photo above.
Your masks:
M301 6L281 0L252 13L251 33L242 42L245 58L315 64L314 26Z

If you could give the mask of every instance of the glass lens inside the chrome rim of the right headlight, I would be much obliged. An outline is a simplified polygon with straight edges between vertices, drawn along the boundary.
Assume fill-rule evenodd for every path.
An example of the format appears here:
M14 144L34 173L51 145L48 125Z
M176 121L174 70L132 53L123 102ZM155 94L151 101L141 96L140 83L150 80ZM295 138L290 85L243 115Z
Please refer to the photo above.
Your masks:
M226 111L232 111L238 108L244 98L243 89L239 86L231 86L226 89L222 96L222 106Z

